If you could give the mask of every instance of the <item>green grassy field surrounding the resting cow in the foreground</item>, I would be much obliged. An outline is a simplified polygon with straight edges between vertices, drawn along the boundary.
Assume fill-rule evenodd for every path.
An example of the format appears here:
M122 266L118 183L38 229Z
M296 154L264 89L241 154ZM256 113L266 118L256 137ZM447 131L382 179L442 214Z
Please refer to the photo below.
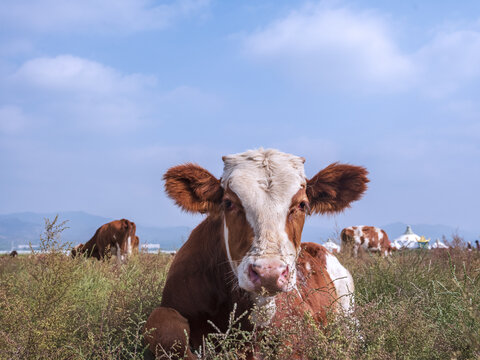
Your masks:
M290 358L292 344L315 359L480 358L480 254L340 258L355 279L358 323L289 319L256 345L266 359ZM160 303L170 260L140 253L119 265L55 249L0 257L0 359L142 359L142 326ZM234 320L229 334L206 342L204 358L240 358L233 349L260 339Z

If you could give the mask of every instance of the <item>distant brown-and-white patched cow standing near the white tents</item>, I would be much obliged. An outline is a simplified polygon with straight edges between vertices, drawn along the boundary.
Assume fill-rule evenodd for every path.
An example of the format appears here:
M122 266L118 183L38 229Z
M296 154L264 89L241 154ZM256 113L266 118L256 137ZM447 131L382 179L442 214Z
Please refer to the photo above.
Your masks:
M350 250L358 256L358 249L363 248L371 252L378 252L383 256L392 254L396 250L388 239L387 233L374 226L350 226L340 234L342 250Z

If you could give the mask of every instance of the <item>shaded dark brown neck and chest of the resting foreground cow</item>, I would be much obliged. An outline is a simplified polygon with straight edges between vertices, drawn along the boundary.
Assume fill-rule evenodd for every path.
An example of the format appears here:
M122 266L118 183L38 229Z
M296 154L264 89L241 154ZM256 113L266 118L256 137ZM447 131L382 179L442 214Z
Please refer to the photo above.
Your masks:
M220 328L227 326L234 304L236 317L253 309L251 319L258 326L267 325L275 313L274 297L252 296L238 287L224 251L223 226L220 215L199 224L175 256L165 284L162 306L178 310L193 332L195 324L207 319ZM250 328L248 316L243 319L242 328Z

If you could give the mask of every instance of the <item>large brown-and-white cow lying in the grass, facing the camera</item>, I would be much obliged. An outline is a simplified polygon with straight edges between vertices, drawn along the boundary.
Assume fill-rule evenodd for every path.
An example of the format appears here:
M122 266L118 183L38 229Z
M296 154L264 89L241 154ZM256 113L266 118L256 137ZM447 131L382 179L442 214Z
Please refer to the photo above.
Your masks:
M285 305L319 323L329 307L351 311L350 273L322 246L301 244L301 235L306 215L336 213L359 199L367 171L334 163L308 180L305 159L271 149L223 161L220 180L194 164L164 175L177 205L208 216L177 252L161 307L147 320L152 351L176 345L196 359L191 348L215 331L208 321L225 331L234 304L237 314L258 310L242 319L243 329L278 323Z

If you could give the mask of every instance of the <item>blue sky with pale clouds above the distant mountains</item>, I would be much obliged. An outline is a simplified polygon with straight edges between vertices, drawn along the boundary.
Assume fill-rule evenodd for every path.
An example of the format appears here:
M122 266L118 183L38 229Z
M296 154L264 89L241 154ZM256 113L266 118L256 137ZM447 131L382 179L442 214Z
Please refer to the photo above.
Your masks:
M0 212L197 223L170 166L274 147L364 165L311 224L479 232L478 1L0 3Z

